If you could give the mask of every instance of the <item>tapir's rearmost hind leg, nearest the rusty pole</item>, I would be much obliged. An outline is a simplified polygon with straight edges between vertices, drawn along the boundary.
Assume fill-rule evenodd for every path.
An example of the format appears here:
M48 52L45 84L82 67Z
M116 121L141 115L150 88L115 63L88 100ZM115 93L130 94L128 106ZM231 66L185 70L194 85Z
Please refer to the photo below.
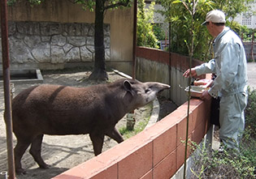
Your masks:
M15 171L18 174L24 174L26 173L25 170L21 166L21 158L24 155L24 152L27 150L28 146L30 145L30 141L21 140L17 138L17 144L14 149L15 153Z

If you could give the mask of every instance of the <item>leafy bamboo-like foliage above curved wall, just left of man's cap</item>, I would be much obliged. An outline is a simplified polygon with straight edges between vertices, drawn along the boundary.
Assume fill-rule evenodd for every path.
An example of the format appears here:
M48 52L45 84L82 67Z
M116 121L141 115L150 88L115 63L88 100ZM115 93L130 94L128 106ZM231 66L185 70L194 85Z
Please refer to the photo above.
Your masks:
M189 55L193 36L193 57L203 58L203 54L208 53L211 37L201 24L214 3L209 0L196 1L197 4L180 0L159 2L163 10L158 12L171 23L171 51Z

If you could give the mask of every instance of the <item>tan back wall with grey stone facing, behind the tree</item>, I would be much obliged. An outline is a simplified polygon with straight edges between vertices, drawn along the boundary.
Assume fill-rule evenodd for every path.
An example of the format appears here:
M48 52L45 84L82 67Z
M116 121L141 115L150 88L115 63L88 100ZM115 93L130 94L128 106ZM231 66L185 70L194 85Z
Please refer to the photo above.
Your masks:
M129 75L132 17L132 7L106 11L104 16L106 65ZM84 11L68 0L42 1L38 6L31 6L27 0L17 1L8 8L11 67L91 66L94 18L94 12Z

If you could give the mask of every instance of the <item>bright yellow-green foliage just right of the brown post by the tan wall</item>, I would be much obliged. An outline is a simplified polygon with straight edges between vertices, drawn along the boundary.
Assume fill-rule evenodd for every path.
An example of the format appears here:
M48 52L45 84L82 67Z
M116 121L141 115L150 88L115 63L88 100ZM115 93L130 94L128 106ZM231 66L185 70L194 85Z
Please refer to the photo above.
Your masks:
M150 8L145 9L144 0L138 1L137 13L137 45L151 48L158 48L158 40L153 32L154 4L151 2Z

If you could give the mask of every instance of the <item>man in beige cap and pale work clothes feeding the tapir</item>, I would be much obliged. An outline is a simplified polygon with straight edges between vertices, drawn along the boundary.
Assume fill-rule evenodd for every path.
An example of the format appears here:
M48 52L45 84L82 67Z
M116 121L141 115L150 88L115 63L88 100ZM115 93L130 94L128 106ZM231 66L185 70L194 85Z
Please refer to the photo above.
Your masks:
M206 15L210 35L215 37L215 58L184 72L184 77L215 73L217 77L209 90L202 92L202 100L220 96L219 139L223 146L239 151L241 133L245 128L244 110L247 104L247 62L239 36L225 27L223 11L214 10Z

